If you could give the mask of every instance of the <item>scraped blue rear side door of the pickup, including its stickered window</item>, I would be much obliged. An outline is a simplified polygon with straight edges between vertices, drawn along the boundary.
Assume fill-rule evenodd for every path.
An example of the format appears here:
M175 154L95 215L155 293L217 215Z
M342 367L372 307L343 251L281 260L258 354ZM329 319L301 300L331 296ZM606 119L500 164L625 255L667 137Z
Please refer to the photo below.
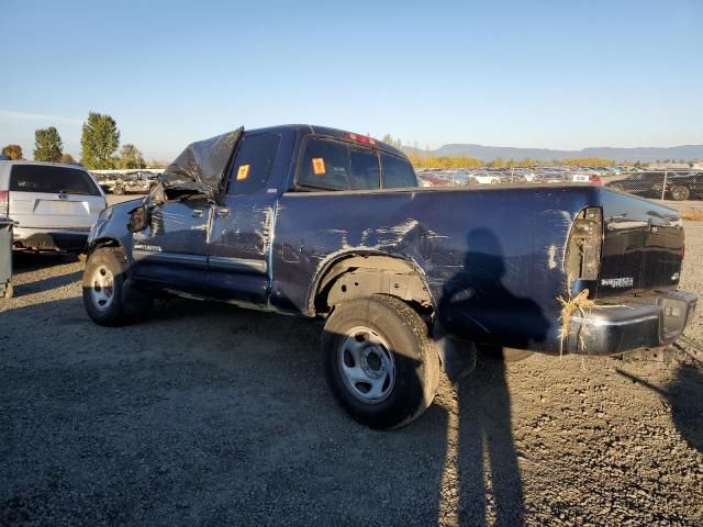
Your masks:
M244 135L210 231L210 290L221 300L266 305L278 189L269 189L281 137Z

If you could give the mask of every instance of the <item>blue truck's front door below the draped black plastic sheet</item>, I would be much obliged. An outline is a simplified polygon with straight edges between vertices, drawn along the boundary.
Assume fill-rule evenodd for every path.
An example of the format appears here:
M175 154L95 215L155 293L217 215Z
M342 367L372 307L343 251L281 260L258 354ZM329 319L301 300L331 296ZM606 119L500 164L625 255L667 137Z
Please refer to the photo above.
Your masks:
M156 208L149 227L133 234L134 278L176 291L205 294L211 213L211 204L202 197Z

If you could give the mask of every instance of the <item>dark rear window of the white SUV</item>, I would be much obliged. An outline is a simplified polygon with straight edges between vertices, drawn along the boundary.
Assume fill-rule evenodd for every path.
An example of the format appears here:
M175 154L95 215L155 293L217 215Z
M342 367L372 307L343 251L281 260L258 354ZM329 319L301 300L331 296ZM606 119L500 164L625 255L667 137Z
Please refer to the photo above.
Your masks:
M14 165L10 172L10 190L46 194L102 195L100 188L85 170L44 165Z

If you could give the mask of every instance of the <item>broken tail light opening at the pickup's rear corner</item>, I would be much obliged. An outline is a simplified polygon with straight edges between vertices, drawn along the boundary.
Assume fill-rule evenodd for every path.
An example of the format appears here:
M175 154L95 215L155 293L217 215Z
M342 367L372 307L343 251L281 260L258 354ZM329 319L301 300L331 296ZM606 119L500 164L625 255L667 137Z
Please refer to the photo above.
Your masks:
M573 221L567 247L566 271L569 280L598 280L601 270L603 212L582 210Z

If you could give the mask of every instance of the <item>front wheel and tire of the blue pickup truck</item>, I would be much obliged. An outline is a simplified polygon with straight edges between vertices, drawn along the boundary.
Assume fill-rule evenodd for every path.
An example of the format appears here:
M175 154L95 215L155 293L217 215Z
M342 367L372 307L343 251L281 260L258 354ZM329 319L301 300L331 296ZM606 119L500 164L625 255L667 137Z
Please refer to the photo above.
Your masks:
M121 248L93 251L83 271L83 305L100 326L122 326L148 315L153 298L135 289L126 277L127 262Z

